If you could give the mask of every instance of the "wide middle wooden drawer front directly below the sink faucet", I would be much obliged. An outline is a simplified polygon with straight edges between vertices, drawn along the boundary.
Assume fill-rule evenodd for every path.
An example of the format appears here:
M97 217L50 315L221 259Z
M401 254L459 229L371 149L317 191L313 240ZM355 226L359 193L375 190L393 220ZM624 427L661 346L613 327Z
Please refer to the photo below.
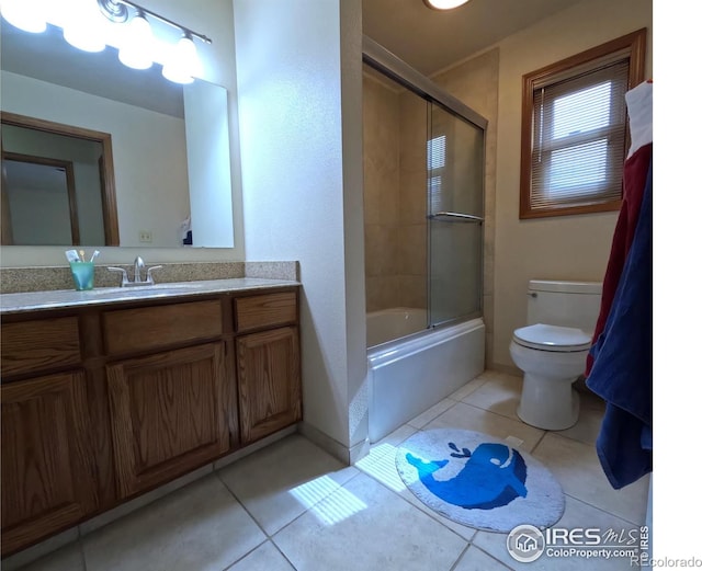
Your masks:
M159 349L222 335L218 299L107 311L103 319L109 354Z

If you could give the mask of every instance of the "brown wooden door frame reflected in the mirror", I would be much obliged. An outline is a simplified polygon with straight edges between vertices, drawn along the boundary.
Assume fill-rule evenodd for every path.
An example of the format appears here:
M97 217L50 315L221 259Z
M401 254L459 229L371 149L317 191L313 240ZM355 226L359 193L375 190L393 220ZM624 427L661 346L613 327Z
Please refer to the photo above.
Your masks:
M53 123L50 121L27 117L15 113L0 112L3 125L13 125L54 135L64 135L102 145L102 157L99 162L102 193L102 219L105 233L105 245L120 245L120 226L117 220L117 196L114 182L114 162L112 159L112 136L109 133L84 129Z

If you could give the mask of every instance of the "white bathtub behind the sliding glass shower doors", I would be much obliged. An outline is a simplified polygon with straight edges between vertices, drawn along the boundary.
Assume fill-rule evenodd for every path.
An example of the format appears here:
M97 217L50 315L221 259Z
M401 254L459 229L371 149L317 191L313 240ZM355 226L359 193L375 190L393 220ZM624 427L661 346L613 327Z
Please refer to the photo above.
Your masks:
M399 307L367 313L366 328L372 443L485 370L483 318L427 329L423 309Z

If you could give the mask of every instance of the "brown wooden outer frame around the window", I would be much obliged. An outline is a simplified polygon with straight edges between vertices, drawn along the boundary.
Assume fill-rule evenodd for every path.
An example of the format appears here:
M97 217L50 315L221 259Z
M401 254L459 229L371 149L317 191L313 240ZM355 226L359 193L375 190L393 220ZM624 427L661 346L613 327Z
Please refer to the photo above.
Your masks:
M597 47L568 57L561 61L556 61L550 66L545 66L536 71L526 73L522 77L522 133L521 133L521 171L520 171L520 199L519 199L519 218L543 218L551 216L568 216L577 214L591 214L619 210L622 204L620 198L615 201L593 201L591 204L585 205L564 205L533 208L531 204L532 189L532 151L533 151L533 133L534 125L532 123L534 109L534 87L536 84L548 84L550 79L554 82L563 80L567 77L569 70L587 65L590 61L605 58L607 56L625 53L624 57L629 58L629 85L633 89L645 78L645 59L646 59L646 28L637 30L631 34L626 34L611 42L607 42ZM629 118L626 119L626 146L629 146Z

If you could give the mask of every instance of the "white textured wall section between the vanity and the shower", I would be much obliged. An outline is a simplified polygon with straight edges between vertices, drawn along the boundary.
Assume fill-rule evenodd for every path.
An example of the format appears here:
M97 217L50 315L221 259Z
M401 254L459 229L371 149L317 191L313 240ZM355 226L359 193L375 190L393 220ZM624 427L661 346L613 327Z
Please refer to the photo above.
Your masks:
M349 454L367 434L360 0L237 0L235 36L247 258L299 260L304 420Z

